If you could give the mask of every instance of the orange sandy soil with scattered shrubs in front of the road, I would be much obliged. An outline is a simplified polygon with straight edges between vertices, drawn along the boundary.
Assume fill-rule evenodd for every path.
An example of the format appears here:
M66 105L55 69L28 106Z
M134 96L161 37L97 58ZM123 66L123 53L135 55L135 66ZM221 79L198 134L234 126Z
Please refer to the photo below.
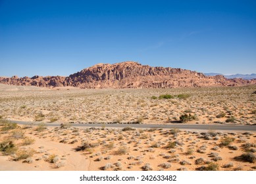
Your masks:
M18 130L24 135L14 139ZM35 142L24 146L27 137ZM18 154L2 152L0 170L256 170L256 160L238 158L255 156L256 133L250 132L23 126L1 131L0 143L7 139L34 154L14 161Z

